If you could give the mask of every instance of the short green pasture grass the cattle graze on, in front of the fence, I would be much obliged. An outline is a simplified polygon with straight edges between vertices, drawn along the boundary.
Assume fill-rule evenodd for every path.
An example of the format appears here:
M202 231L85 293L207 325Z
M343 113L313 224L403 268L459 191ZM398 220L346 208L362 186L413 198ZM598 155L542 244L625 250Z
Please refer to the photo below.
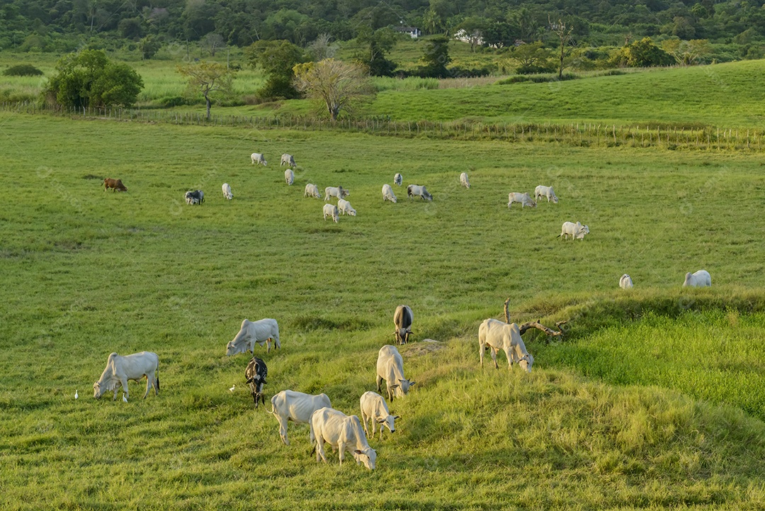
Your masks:
M703 387L642 377L653 351L607 349L650 337L660 358L676 353L674 367L702 381L708 368L692 347L722 335L731 356L757 342L759 315L698 324L647 315L608 330L578 314L572 344L527 337L531 374L480 369L476 340L508 296L514 319L548 317L557 313L540 313L546 303L615 295L623 272L638 294L675 296L700 268L715 285L703 293L756 293L758 156L7 114L0 135L0 183L12 190L0 211L0 480L10 509L249 509L254 497L272 509L765 504L761 412L705 394L715 374ZM250 164L254 151L267 167ZM282 152L298 163L292 187ZM394 187L399 203L382 203L396 172L427 185L433 202ZM129 192L105 193L103 177ZM350 189L358 216L322 220L324 200L303 197L308 182ZM509 191L536 184L555 186L560 202L507 208ZM207 202L187 206L184 192L197 188ZM591 234L556 238L565 220ZM415 312L418 342L402 353L417 384L391 405L402 416L396 434L370 440L377 469L317 464L304 425L281 444L246 391L249 356L225 356L243 318L281 327L282 350L256 348L267 395L327 392L358 414L399 303ZM581 334L588 324L591 336ZM675 337L688 349L673 349ZM591 365L576 352L589 344L603 347ZM131 383L127 404L94 401L109 353L140 350L160 356L160 395L142 401ZM734 361L711 359L738 374ZM609 368L627 375L614 381ZM747 377L726 382L760 388L756 370Z

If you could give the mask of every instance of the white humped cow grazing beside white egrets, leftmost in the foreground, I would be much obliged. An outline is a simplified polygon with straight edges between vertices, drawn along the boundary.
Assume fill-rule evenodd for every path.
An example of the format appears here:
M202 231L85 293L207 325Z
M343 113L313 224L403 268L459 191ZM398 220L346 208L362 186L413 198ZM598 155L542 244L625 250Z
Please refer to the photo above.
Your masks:
M146 393L154 387L154 395L159 393L159 357L157 353L151 351L142 351L132 355L119 356L117 353L111 353L106 360L106 369L103 369L101 377L93 383L93 397L101 399L105 392L114 391L112 401L117 399L117 390L122 386L122 392L125 395L123 399L129 398L128 380L136 382L146 376Z

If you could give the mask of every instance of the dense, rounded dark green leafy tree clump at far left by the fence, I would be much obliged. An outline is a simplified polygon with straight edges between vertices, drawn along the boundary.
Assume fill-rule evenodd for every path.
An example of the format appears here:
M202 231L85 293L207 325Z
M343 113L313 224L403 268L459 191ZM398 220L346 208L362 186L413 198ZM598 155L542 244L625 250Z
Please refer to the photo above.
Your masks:
M56 70L43 94L60 106L132 106L144 86L132 67L112 62L103 50L62 57Z

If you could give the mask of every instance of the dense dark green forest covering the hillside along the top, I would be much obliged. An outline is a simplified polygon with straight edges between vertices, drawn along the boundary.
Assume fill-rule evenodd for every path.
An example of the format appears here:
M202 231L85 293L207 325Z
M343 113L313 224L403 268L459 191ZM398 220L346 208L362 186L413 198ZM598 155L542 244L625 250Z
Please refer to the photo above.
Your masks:
M319 34L347 41L361 30L411 26L423 34L480 33L484 47L544 39L565 21L578 44L621 47L642 37L734 44L762 57L765 0L0 0L0 48L64 52L84 44L220 41L246 47ZM549 30L546 30L549 32ZM551 43L552 44L552 43ZM151 52L147 52L150 54Z

